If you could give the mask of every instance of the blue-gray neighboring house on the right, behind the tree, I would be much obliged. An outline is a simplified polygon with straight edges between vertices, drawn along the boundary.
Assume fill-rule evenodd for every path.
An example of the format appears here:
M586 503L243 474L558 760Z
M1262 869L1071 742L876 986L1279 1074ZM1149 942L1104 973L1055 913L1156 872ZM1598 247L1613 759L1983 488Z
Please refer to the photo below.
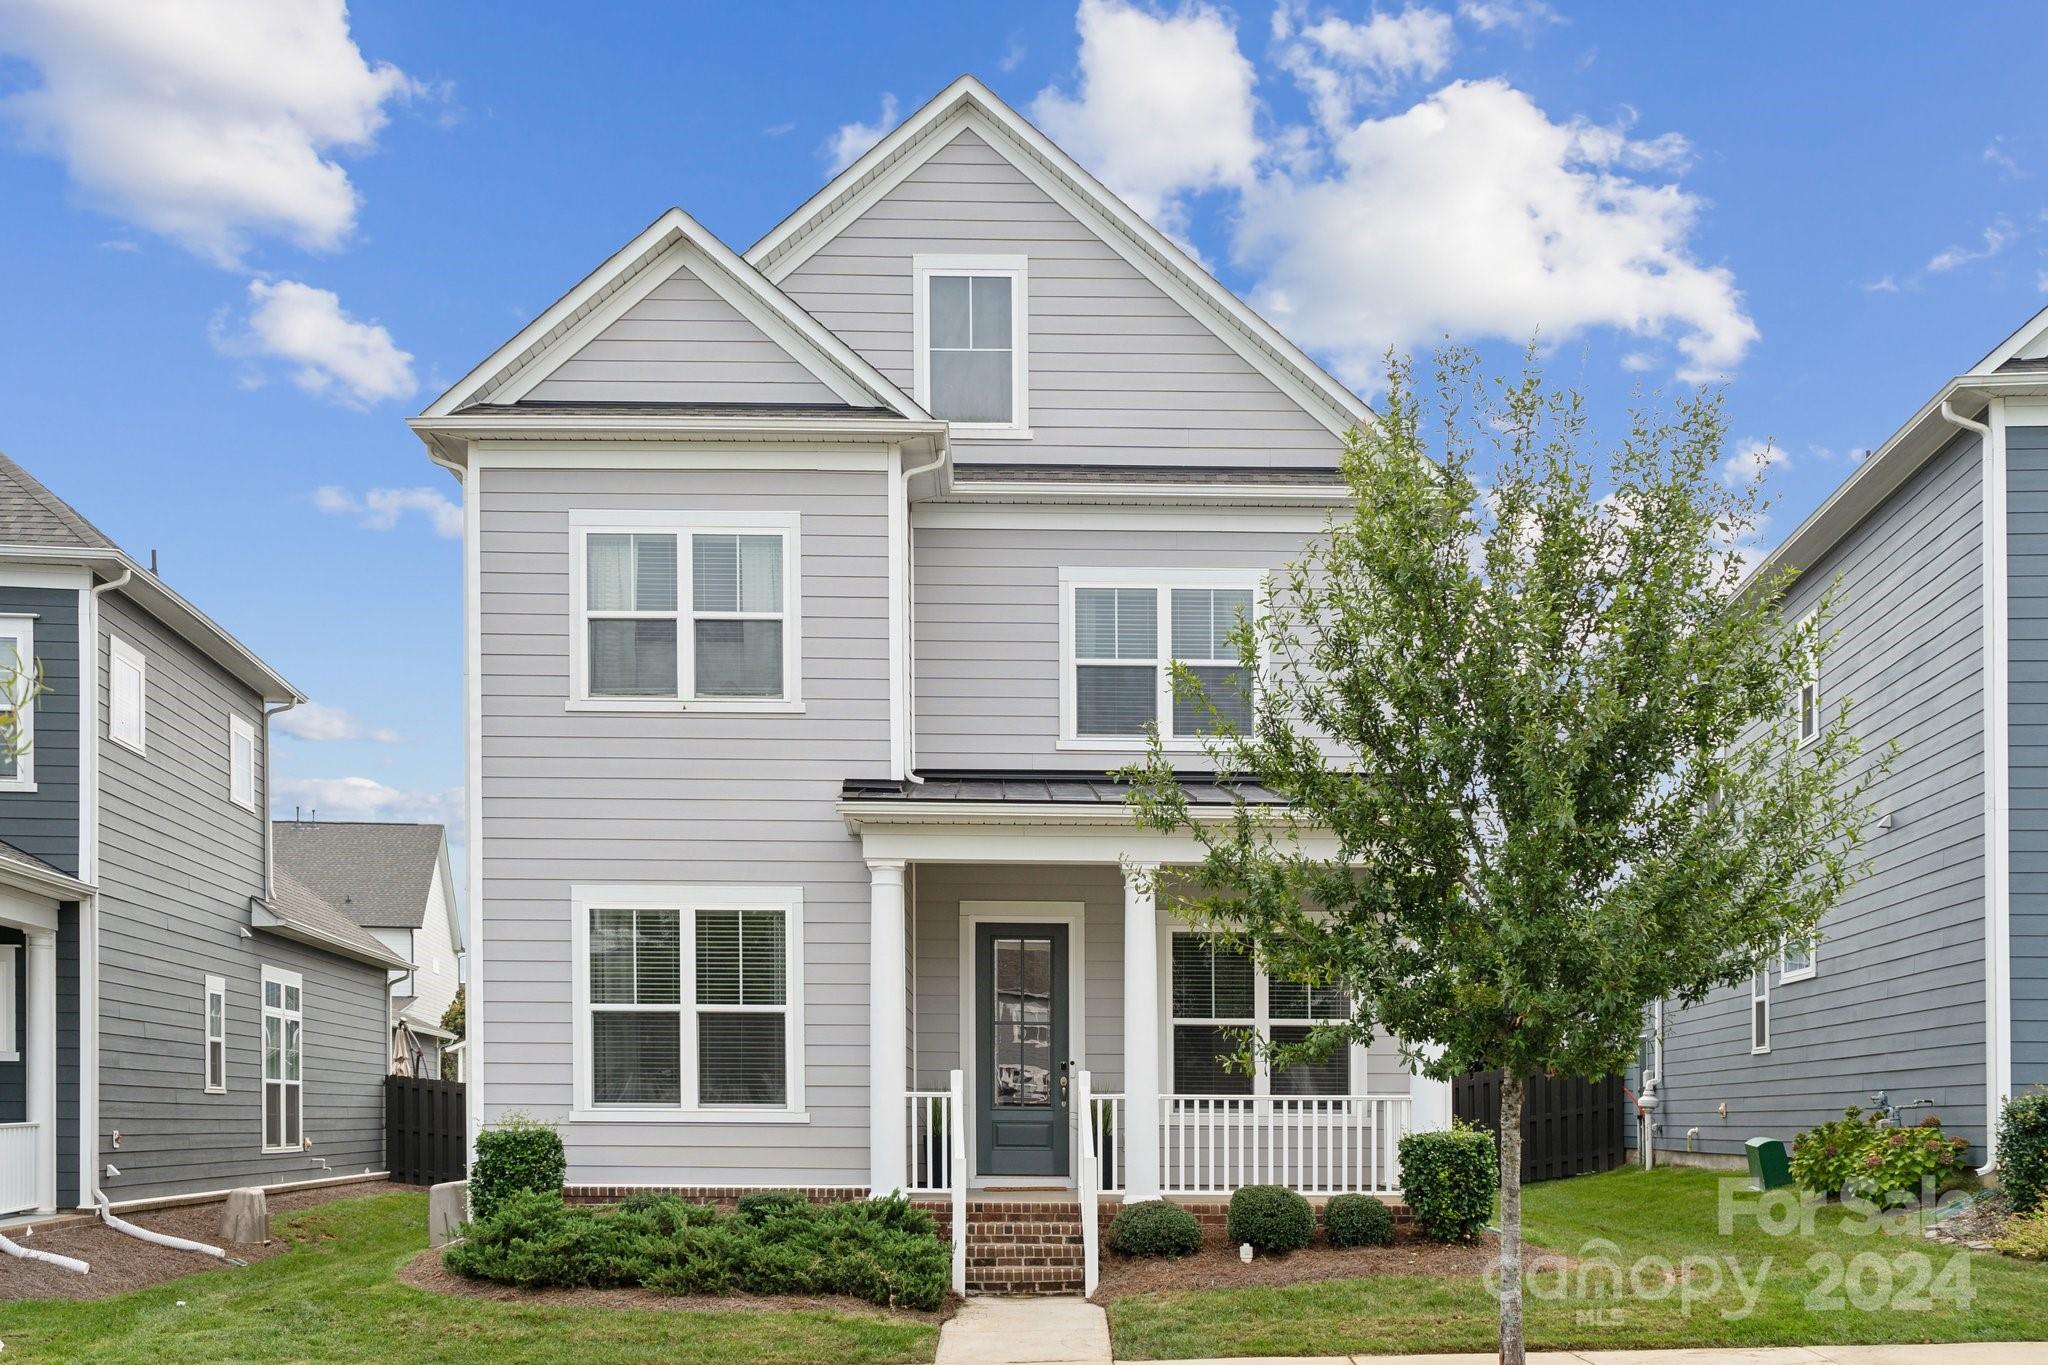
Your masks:
M1866 755L1896 759L1870 874L1821 941L1653 1011L1657 1148L1737 1156L1882 1091L1989 1162L1997 1105L2048 1085L2048 311L1942 385L1753 581L1786 567L1788 618L1841 593L1819 677L1786 679L1794 724L1853 700Z

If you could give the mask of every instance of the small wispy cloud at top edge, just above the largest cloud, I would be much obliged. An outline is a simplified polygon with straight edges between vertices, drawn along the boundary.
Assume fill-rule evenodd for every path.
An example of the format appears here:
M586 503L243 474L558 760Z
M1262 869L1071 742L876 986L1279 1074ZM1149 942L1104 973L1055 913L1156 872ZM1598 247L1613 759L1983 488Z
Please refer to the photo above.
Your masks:
M1282 70L1331 135L1346 131L1358 104L1393 94L1403 80L1442 76L1458 45L1450 14L1413 4L1360 23L1335 14L1309 23L1298 4L1282 4L1274 41Z

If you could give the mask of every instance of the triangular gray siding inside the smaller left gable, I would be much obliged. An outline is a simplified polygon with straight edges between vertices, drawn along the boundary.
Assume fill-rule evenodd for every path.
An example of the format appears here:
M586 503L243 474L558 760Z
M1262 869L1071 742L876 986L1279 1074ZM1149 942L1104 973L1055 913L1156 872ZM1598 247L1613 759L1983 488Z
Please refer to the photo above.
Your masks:
M535 385L526 401L844 403L688 266Z

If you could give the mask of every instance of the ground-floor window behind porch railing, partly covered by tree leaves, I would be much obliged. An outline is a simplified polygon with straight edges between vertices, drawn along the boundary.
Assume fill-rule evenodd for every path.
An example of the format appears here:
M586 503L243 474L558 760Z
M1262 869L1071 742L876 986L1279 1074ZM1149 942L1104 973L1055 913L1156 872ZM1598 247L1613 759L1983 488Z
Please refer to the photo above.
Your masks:
M1245 1031L1272 1044L1298 1044L1317 1023L1352 1017L1333 986L1270 980L1243 948L1208 933L1171 935L1174 1095L1350 1095L1354 1048L1333 1048L1313 1062L1272 1070L1225 1064Z

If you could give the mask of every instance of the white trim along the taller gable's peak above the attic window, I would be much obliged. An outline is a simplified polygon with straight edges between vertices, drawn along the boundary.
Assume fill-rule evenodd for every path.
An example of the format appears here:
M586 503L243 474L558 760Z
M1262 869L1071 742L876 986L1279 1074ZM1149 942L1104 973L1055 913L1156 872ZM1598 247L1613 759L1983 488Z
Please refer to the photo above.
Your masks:
M1251 368L1276 383L1337 436L1372 422L1364 399L1217 282L1182 248L1130 211L1044 133L1004 104L973 76L946 86L932 102L840 172L797 213L748 250L748 260L780 284L838 231L866 213L911 172L971 129L1067 213L1085 223L1139 274L1208 323Z

